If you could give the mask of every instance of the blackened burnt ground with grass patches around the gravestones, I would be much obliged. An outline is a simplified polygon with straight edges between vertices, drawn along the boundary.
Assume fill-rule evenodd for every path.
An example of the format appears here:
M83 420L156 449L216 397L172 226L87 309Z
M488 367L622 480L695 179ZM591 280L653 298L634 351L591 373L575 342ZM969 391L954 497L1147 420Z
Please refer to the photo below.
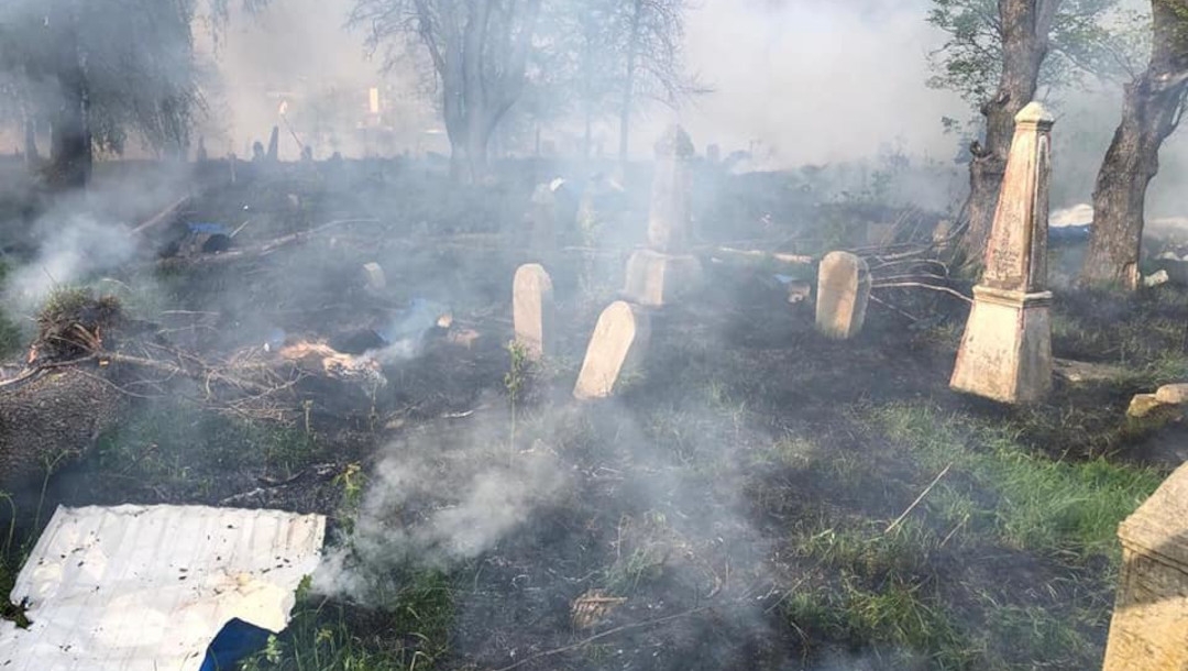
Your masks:
M309 390L283 425L203 407L189 381L124 399L81 461L6 499L5 591L58 504L267 506L329 514L336 572L258 669L1099 663L1116 525L1178 463L1182 428L1130 423L1125 406L1186 372L1181 290L1059 295L1056 356L1125 374L1060 379L1016 410L948 390L967 308L947 293L876 290L864 333L836 342L770 268L714 266L696 300L655 316L642 374L580 405L570 390L644 203L608 216L619 246L549 264L558 352L517 369L510 286L527 259L508 240L531 175L456 192L378 162L238 179L189 219L247 221L240 247L343 223L234 262L150 255L96 289L211 356L277 329L362 333L413 297L450 303L449 330L478 340L438 333L387 362L383 388ZM814 253L849 235L829 223L846 210L814 208L791 177L718 179L702 242ZM852 216L886 216L866 208ZM367 261L385 292L365 290Z

